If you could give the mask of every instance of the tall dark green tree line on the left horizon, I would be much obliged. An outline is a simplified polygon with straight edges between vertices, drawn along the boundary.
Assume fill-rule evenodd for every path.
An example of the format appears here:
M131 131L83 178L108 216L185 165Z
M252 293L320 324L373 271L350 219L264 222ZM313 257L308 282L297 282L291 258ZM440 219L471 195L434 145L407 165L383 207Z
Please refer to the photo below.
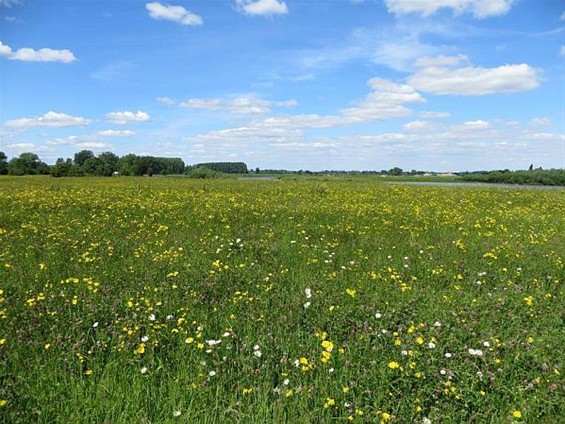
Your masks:
M47 165L35 153L22 153L8 161L0 152L0 175L51 175L53 177L80 177L113 175L172 175L190 174L195 169L209 169L217 173L246 174L243 162L210 162L186 166L180 158L138 156L127 154L119 157L112 152L95 155L91 150L81 150L73 158L59 158L54 165Z

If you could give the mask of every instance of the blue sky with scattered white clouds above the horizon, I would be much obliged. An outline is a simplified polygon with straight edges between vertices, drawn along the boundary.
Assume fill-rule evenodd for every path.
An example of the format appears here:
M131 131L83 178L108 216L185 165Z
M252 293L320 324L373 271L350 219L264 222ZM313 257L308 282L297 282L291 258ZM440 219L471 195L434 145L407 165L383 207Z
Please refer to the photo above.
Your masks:
M0 0L0 150L565 167L562 0Z

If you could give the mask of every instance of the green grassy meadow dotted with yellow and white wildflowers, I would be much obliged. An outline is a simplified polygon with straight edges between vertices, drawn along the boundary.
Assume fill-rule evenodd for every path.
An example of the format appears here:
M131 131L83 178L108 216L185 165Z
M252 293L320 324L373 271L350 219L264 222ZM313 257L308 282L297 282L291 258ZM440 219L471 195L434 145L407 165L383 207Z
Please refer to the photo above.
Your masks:
M0 421L565 416L565 191L0 179Z

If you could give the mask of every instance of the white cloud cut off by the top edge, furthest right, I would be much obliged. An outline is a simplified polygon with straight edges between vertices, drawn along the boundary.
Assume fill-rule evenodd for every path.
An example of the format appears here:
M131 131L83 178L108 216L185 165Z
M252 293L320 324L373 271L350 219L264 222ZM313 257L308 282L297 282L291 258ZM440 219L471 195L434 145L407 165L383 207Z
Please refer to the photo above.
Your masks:
M388 11L396 15L416 13L430 16L440 9L451 9L455 15L470 13L477 19L508 13L516 0L385 0Z

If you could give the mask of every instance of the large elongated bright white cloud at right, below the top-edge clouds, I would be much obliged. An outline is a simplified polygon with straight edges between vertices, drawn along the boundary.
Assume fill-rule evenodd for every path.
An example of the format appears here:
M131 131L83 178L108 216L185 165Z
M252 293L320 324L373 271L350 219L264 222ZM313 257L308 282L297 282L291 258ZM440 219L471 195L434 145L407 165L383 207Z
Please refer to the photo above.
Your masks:
M482 96L533 90L539 79L538 70L524 63L497 68L432 66L418 70L408 84L426 93Z

